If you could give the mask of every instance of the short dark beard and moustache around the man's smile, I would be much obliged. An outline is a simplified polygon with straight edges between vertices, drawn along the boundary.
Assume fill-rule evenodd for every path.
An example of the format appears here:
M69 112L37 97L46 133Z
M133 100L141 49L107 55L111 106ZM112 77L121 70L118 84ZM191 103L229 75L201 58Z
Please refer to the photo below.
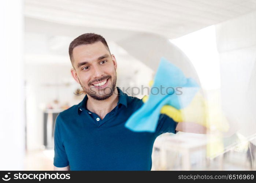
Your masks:
M88 94L90 97L94 98L95 100L105 100L112 96L114 93L115 87L116 87L116 71L115 75L112 78L112 76L104 76L103 78L100 78L99 81L103 81L105 79L108 79L108 82L111 84L104 89L97 89L95 87L89 87L89 89L82 87L86 94ZM80 81L79 81L80 82ZM80 85L82 86L81 82ZM90 85L89 85L90 86Z

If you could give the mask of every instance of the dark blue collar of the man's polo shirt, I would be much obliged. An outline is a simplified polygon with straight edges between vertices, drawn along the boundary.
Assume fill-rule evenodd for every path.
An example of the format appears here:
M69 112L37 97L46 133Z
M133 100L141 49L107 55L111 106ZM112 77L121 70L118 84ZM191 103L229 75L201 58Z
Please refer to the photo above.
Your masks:
M120 107L122 105L124 105L126 108L127 108L127 94L126 93L123 93L123 91L118 87L116 86L117 88L117 91L118 91L118 107ZM88 100L88 96L85 95L84 99L78 104L78 114L80 115L81 111L88 111L87 108L86 108L86 102Z

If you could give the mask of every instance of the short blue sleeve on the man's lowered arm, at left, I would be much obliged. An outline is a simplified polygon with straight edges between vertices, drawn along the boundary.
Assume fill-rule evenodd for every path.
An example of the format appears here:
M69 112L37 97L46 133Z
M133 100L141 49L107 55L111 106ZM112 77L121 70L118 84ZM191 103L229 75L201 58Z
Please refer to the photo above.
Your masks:
M53 165L55 167L67 167L69 165L65 147L61 138L61 125L62 119L60 115L57 116L54 127L54 158Z

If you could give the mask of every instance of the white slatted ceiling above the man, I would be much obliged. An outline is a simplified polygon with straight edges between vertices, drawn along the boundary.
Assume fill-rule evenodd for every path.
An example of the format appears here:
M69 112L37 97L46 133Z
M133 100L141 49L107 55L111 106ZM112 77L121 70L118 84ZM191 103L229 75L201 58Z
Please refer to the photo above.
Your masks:
M256 10L256 0L25 0L25 16L177 38Z

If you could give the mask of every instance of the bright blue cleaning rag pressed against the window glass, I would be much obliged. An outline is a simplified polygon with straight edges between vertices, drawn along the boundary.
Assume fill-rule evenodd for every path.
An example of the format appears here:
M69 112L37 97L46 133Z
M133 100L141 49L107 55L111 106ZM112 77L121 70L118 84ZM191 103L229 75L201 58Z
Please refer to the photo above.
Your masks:
M155 132L163 105L182 109L188 106L199 88L194 79L186 78L178 67L162 57L148 100L129 117L125 127L136 132Z

